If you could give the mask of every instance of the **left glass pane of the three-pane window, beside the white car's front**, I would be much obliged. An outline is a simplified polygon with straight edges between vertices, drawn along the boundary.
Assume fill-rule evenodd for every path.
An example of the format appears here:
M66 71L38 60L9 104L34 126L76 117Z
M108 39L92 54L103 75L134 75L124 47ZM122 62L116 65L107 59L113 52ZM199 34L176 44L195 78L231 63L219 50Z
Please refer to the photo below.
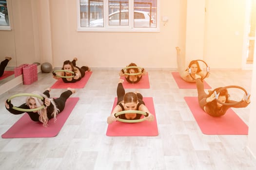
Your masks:
M81 27L103 27L103 0L80 0Z

